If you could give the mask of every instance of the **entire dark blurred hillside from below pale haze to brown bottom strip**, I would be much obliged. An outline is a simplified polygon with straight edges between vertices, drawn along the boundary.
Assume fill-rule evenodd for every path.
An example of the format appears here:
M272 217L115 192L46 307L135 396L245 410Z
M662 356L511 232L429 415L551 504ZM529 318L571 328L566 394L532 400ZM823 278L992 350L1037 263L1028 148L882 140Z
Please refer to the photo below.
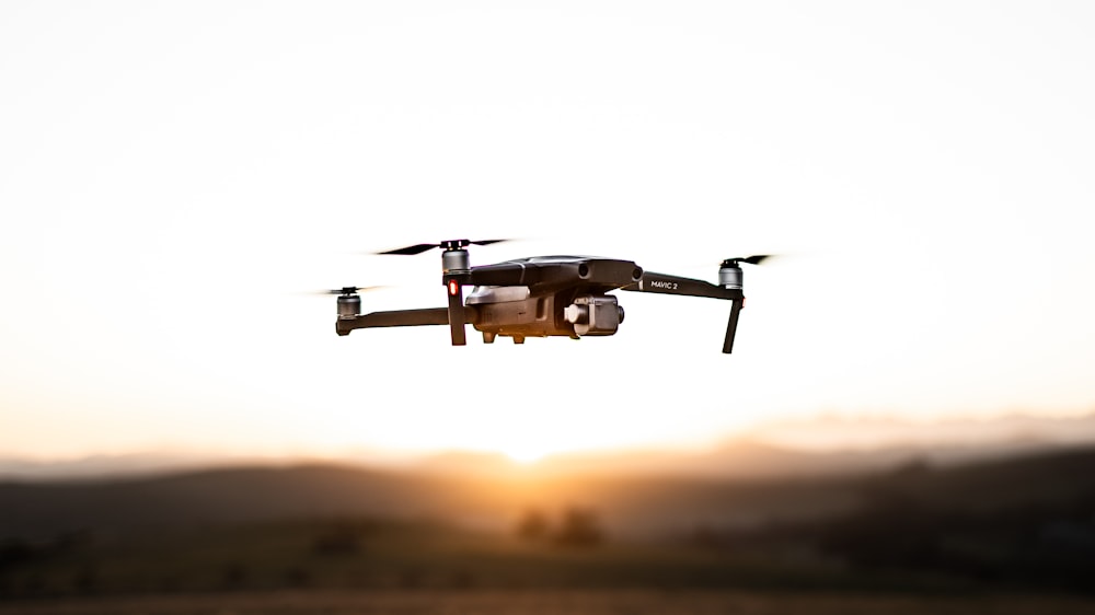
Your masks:
M278 588L1091 592L1095 448L729 479L224 468L0 484L0 594Z

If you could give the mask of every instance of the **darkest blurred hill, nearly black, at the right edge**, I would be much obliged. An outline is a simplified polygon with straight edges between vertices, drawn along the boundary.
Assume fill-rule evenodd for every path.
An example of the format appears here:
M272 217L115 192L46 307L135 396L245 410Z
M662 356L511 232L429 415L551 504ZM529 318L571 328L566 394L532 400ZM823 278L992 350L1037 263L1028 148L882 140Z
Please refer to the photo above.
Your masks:
M858 486L862 503L825 520L713 531L708 545L808 549L864 571L1095 593L1095 451L948 469L909 465Z

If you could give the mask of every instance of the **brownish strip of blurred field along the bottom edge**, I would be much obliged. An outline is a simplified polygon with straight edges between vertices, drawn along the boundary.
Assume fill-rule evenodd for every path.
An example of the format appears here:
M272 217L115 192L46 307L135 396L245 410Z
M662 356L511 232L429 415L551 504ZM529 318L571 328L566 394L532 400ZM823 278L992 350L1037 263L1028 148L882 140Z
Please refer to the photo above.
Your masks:
M262 593L0 603L26 615L1090 614L1095 603L1030 595L910 596L655 591Z

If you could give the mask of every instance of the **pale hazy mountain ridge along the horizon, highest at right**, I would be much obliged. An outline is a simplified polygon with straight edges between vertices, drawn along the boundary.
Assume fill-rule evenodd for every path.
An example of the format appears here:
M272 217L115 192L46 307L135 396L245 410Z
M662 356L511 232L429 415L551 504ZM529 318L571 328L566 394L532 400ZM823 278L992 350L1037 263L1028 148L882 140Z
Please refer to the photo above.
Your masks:
M885 472L913 460L933 465L963 464L1086 445L1095 446L1095 414L1065 418L1015 415L934 422L835 416L773 422L696 451L564 453L531 465L518 464L498 453L449 451L395 461L360 451L324 463L366 469L407 468L449 476L532 472L769 479ZM0 457L0 481L137 478L217 467L286 467L310 463L313 462L307 459L172 453L93 455L48 462Z

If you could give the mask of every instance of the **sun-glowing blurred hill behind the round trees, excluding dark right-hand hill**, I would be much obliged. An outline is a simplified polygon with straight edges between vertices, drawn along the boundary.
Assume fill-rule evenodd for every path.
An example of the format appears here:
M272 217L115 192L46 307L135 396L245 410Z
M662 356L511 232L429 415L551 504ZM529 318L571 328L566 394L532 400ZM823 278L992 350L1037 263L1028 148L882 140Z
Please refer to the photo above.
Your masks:
M839 485L838 485L839 484ZM163 477L0 484L0 529L48 536L82 529L158 531L226 524L372 515L435 519L503 530L529 508L597 508L622 535L659 534L698 523L756 524L850 510L844 479L727 480L677 476L379 471L338 465L208 469Z

